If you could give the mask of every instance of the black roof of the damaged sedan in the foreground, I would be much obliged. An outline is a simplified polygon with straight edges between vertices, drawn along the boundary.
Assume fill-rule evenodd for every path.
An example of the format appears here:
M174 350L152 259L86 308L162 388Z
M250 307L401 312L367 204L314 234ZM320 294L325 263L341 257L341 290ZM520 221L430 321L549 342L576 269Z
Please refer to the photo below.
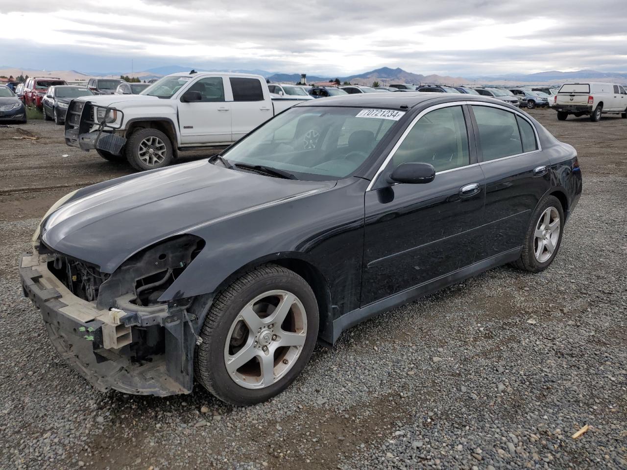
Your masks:
M429 100L435 100L437 103L477 101L505 105L505 103L501 100L482 97L481 95L460 95L460 93L421 93L416 91L414 93L363 93L359 95L342 95L340 97L324 98L324 100L307 101L298 105L298 107L329 106L408 110L409 108L426 103Z

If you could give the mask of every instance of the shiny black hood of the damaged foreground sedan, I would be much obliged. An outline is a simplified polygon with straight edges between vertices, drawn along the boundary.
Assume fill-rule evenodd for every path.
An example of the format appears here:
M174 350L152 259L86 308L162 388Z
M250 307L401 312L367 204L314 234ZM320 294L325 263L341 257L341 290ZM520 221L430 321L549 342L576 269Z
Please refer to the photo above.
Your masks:
M129 256L158 241L335 184L267 177L201 160L78 191L43 221L41 241L113 273ZM210 246L211 240L206 243Z

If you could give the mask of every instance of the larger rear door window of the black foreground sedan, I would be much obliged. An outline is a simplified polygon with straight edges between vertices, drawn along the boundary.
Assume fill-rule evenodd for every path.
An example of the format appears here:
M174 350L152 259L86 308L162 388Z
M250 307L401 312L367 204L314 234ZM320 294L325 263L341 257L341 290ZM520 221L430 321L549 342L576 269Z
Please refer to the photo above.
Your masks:
M473 106L479 128L479 144L483 161L522 154L520 131L514 113L505 110Z

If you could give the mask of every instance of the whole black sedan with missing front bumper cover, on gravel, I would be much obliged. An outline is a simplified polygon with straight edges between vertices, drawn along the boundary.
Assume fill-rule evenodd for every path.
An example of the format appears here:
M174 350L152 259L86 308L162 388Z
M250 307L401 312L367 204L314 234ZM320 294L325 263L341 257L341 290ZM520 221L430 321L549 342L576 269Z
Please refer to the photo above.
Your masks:
M278 394L317 341L512 263L549 267L571 145L459 93L311 100L221 155L63 197L21 258L48 335L97 389Z

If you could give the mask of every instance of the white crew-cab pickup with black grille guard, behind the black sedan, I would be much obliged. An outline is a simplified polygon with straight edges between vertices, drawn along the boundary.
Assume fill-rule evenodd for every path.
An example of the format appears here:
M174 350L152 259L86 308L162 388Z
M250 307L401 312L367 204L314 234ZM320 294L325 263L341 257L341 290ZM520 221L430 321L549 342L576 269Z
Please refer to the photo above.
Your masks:
M233 144L300 102L272 96L259 75L174 73L140 95L76 98L68 107L65 142L151 170L171 164L182 150Z

